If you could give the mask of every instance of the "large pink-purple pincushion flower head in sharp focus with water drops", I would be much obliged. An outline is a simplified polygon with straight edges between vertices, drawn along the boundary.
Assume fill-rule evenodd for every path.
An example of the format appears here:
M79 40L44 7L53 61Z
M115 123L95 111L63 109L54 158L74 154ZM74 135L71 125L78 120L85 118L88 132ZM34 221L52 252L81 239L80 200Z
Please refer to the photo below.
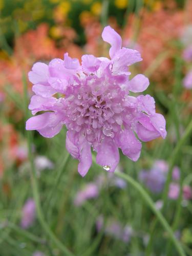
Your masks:
M64 60L53 59L49 65L37 62L29 72L35 93L29 109L33 115L45 113L31 117L26 129L52 138L65 124L66 147L79 160L81 176L92 164L91 147L97 152L96 162L114 172L118 148L137 161L140 140L166 136L165 119L155 112L154 98L130 96L130 91L140 93L149 85L142 74L130 78L129 66L142 60L140 53L121 48L122 39L110 26L103 29L102 38L111 45L111 59L83 55L80 65L65 53Z

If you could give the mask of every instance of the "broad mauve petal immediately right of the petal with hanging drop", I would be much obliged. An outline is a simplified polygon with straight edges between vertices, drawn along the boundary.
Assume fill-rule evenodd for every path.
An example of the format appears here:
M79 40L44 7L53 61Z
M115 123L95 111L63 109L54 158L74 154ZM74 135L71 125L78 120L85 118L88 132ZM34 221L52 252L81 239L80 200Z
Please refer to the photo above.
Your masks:
M120 132L116 137L117 145L122 153L133 161L137 161L141 153L141 142L136 139L131 129Z

